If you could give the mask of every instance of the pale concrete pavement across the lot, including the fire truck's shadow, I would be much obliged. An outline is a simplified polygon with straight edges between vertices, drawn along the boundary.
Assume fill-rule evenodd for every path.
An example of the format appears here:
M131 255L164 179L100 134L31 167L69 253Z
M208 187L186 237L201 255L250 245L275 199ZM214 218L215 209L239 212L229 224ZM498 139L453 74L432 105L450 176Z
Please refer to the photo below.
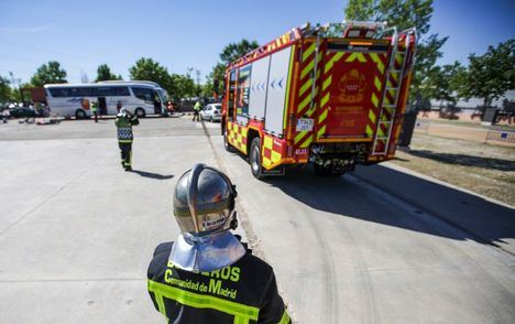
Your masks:
M513 323L512 207L385 166L260 182L206 125L143 119L132 173L112 120L0 125L0 323L164 323L146 266L178 235L173 186L196 162L237 184L297 322Z

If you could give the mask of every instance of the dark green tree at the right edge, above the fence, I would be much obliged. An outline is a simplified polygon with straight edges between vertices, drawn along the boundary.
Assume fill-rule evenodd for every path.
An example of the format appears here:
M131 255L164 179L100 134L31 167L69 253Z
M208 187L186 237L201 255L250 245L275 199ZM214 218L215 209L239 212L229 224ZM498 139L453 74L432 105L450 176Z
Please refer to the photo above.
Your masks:
M515 40L489 46L481 56L471 54L464 80L463 97L482 98L485 107L515 88Z

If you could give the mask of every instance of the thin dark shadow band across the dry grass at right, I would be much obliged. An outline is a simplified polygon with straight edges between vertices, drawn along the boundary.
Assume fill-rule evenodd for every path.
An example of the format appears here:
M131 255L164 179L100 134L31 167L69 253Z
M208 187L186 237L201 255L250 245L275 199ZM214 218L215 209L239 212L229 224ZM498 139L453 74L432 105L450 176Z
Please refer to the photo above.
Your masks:
M503 159L482 158L465 154L439 153L428 150L410 150L407 153L447 164L476 166L482 169L493 169L498 171L514 171L515 162Z

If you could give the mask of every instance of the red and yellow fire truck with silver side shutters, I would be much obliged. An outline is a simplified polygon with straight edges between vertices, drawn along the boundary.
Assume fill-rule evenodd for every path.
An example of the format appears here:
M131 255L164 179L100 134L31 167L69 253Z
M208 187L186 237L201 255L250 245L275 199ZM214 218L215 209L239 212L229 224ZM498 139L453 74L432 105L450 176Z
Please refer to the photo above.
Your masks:
M258 179L394 158L415 43L415 29L385 23L306 24L248 53L226 71L226 149L248 155Z

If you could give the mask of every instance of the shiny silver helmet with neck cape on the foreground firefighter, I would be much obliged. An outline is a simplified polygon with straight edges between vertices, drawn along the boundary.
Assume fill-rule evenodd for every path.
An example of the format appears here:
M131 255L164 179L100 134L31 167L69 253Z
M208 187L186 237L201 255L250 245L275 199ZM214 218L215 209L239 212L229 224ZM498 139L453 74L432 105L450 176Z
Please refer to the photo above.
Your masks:
M180 235L169 259L188 271L211 271L230 266L245 253L229 231L235 220L235 186L217 169L195 164L177 181L174 216Z

